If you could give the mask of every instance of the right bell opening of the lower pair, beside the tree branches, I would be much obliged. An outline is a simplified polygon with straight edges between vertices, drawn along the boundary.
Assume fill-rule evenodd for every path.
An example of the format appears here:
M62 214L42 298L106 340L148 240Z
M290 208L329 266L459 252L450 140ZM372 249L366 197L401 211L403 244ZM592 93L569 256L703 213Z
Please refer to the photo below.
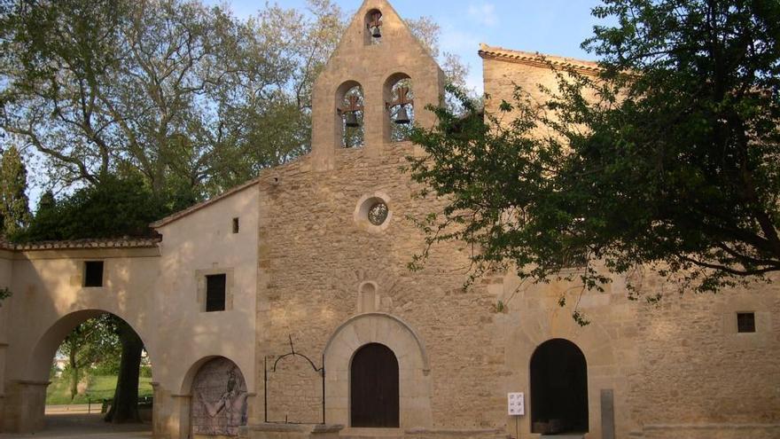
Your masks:
M385 82L385 138L391 142L409 140L415 122L414 88L408 74L397 73Z

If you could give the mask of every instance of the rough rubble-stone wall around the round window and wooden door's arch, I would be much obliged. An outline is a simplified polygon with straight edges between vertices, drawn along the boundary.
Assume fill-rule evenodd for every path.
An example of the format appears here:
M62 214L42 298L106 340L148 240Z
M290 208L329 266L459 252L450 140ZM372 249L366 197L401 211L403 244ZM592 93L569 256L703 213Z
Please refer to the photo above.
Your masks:
M503 419L503 405L487 390L503 375L503 348L487 329L495 325L494 299L483 286L463 291L467 250L454 244L437 247L425 270L408 270L423 235L405 216L436 207L412 198L419 188L399 170L409 153L410 145L386 145L374 158L363 149L340 150L338 171L303 171L303 159L263 177L261 212L269 216L260 229L259 361L288 352L292 335L295 350L320 363L337 327L358 313L359 286L375 282L376 311L409 324L430 358L432 424L403 426L402 407L402 427L492 426ZM377 192L393 215L379 233L354 219L358 201ZM291 382L285 390L269 401L297 400L307 387Z

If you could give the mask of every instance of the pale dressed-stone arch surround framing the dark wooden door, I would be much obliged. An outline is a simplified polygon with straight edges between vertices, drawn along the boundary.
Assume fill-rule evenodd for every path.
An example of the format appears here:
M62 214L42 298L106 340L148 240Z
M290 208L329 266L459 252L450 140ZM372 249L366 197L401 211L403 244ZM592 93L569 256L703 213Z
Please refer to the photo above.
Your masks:
M326 421L349 425L350 365L355 352L369 343L385 345L398 360L400 427L432 427L432 377L425 344L401 318L381 312L347 319L325 344Z

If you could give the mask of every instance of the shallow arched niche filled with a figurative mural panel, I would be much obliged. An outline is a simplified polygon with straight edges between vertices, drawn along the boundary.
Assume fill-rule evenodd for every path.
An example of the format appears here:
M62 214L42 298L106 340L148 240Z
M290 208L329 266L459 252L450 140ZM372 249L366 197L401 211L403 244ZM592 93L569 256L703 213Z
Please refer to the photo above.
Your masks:
M241 369L228 358L210 357L193 372L189 437L238 436L250 396Z

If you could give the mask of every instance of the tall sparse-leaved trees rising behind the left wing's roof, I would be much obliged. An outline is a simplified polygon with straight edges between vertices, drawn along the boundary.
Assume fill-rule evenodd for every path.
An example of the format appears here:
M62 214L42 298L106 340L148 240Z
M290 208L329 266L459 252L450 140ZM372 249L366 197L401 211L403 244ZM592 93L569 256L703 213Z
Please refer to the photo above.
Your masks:
M0 16L0 126L62 186L137 169L202 198L309 149L339 8L250 20L181 0L20 0Z

